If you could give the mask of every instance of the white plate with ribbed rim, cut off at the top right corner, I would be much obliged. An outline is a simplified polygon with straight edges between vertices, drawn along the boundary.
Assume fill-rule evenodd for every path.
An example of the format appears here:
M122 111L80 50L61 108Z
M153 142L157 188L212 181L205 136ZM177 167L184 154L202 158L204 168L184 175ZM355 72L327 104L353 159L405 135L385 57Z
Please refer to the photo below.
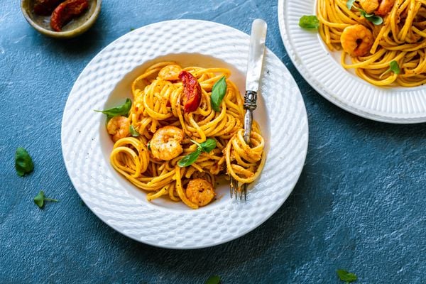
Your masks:
M318 33L303 30L299 19L315 15L316 0L278 0L281 38L305 80L330 102L376 121L413 124L426 121L426 88L376 87L340 65Z

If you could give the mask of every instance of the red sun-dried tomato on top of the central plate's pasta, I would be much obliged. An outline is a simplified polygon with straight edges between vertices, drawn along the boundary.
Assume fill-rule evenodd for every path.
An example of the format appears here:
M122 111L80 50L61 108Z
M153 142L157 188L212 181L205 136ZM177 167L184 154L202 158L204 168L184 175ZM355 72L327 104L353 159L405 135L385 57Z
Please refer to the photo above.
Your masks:
M179 79L183 84L183 109L186 113L195 111L201 103L201 86L190 72L181 71Z

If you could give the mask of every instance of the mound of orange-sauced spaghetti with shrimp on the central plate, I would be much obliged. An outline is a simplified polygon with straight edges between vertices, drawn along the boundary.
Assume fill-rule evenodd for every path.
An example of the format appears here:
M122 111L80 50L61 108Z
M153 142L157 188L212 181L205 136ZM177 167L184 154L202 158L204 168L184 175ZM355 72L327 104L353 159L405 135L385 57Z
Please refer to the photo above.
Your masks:
M185 89L184 75L200 85L198 105L197 97L185 97L197 96L197 90ZM148 192L147 200L168 197L197 209L212 201L218 175L231 175L241 185L260 175L265 163L263 137L254 122L249 145L244 142L244 101L227 79L230 75L224 68L182 68L175 62L159 62L133 81L128 118L116 116L107 124L115 141L110 160L117 172ZM219 111L214 111L212 89L222 77L226 77L226 94ZM214 139L216 147L207 153L200 143L208 139ZM194 163L179 165L195 153Z

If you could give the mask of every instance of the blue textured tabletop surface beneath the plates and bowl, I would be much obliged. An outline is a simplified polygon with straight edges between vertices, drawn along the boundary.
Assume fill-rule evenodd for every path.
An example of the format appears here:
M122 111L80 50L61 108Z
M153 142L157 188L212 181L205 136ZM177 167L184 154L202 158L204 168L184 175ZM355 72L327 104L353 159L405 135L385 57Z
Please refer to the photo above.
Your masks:
M426 124L361 119L323 99L299 75L280 38L276 1L104 0L95 26L73 40L45 38L20 1L0 2L0 283L426 283ZM77 76L102 48L148 23L216 21L267 45L299 84L310 124L305 168L271 219L227 244L173 251L139 244L82 204L62 160L60 124ZM35 170L19 178L18 146ZM60 200L40 210L44 190Z

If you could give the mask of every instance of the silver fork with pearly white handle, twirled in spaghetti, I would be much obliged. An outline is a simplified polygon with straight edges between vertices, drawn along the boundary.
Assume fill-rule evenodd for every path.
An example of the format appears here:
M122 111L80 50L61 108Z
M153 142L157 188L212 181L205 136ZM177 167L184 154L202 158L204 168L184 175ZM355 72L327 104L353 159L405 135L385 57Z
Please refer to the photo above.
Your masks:
M249 45L249 60L247 62L246 75L246 94L244 96L244 141L250 144L251 124L253 122L253 110L256 109L257 92L259 82L261 80L261 72L263 65L263 55L265 54L266 40L266 22L260 18L256 18L251 24L251 35ZM229 175L229 193L231 198L235 194L235 199L239 198L247 200L247 184L243 183L239 186L239 182L234 180L232 175Z

